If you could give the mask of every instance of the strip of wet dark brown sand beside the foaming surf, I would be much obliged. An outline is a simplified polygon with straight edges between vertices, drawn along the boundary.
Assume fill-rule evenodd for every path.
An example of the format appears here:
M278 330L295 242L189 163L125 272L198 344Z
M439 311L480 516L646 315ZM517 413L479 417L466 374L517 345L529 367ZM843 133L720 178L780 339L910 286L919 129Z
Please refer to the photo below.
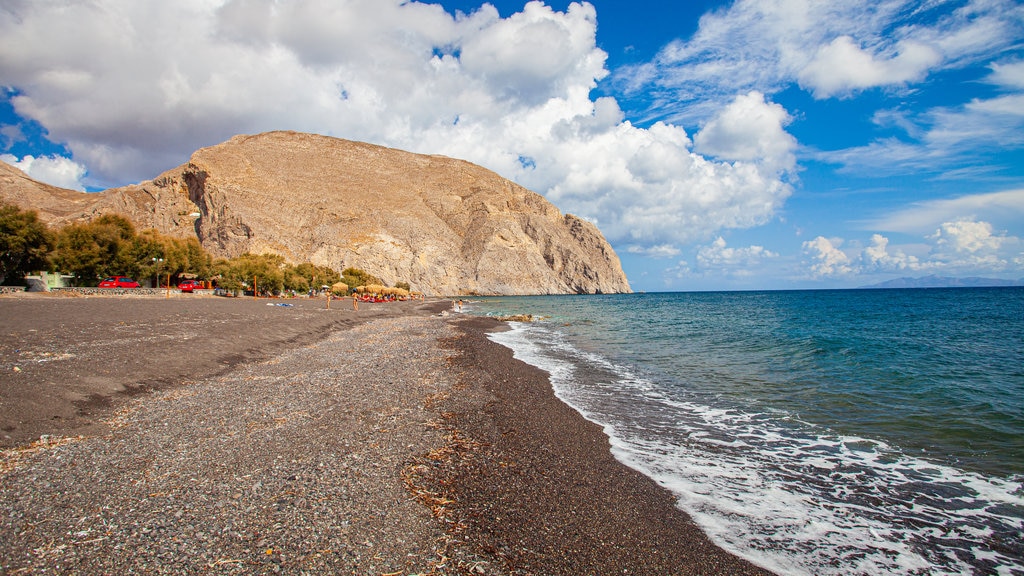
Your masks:
M471 549L510 574L771 574L714 544L667 489L617 461L546 372L487 338L499 322L455 326L466 393L440 410L466 448L438 485Z

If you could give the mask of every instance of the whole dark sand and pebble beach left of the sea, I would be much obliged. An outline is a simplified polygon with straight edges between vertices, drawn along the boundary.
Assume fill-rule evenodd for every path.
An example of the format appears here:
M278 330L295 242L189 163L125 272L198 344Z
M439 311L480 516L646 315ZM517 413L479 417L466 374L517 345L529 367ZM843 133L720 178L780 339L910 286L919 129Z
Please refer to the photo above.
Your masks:
M0 298L0 572L764 573L450 308Z

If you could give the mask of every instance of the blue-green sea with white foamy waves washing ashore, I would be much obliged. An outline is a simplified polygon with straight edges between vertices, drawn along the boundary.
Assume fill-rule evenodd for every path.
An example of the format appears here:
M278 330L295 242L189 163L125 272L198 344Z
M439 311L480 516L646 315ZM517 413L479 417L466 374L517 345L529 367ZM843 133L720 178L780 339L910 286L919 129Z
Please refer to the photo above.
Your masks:
M486 297L623 463L778 574L1024 575L1024 288Z

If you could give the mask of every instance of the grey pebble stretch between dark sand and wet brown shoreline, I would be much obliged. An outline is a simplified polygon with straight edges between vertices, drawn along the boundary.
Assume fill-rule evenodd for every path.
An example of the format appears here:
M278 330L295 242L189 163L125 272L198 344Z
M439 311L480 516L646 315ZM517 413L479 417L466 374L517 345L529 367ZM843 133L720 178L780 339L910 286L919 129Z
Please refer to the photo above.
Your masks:
M0 573L443 574L443 526L401 474L444 443L424 401L453 384L453 334L373 320L133 400L2 478Z

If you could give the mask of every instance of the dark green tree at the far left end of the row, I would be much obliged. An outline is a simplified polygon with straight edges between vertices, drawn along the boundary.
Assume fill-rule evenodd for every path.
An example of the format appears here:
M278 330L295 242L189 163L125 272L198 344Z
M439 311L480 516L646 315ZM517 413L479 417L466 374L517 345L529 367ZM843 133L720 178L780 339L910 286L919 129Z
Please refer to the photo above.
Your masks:
M49 266L53 235L34 210L0 204L0 284Z

